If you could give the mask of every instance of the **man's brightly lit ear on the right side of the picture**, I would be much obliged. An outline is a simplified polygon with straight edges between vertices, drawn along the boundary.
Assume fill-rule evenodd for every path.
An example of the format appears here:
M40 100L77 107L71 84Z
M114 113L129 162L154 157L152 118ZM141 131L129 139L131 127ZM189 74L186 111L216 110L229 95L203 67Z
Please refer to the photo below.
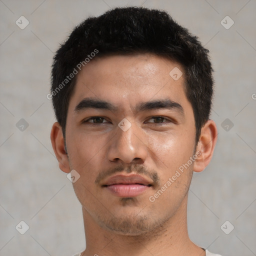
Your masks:
M217 141L217 127L213 120L207 120L201 128L201 134L196 146L197 158L194 161L193 170L204 170L211 160ZM200 153L199 153L200 152Z

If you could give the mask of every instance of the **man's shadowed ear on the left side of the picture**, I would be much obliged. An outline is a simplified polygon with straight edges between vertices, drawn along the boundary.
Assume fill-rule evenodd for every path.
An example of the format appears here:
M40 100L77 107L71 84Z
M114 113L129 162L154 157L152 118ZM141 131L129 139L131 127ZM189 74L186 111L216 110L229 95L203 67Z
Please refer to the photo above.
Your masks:
M51 145L58 160L59 168L68 173L70 171L67 153L65 151L62 128L58 122L54 122L50 132Z

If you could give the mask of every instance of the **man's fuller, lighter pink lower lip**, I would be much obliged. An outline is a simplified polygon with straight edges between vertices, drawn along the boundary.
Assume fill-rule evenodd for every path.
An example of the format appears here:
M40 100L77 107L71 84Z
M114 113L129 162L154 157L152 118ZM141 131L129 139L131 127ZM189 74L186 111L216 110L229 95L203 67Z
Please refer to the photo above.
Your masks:
M149 186L140 184L113 184L106 186L114 195L121 197L137 196L144 192Z

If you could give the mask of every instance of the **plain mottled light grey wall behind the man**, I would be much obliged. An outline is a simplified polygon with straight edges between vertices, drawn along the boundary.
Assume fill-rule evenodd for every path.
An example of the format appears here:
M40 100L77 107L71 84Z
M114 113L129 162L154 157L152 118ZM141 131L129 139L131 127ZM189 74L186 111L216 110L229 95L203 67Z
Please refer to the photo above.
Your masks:
M49 139L50 65L74 25L125 5L168 11L210 50L218 141L210 164L193 176L189 235L224 256L256 255L255 0L0 0L0 255L84 249L81 206ZM24 29L15 24L21 15L29 21ZM229 29L221 24L226 15L234 21ZM28 127L16 125L21 118ZM29 225L23 235L15 229L21 220ZM229 234L220 228L226 220L234 226Z

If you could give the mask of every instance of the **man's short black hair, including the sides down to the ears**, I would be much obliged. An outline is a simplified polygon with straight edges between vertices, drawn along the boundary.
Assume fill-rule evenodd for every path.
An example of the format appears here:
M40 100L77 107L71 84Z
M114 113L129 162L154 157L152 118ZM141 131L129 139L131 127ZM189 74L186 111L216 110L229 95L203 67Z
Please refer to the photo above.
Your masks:
M81 65L91 57L136 53L153 53L181 64L184 91L193 108L195 141L198 142L201 127L209 118L213 93L208 50L167 12L144 7L117 7L98 17L88 17L56 51L50 98L64 137L68 103L75 86L74 74Z

